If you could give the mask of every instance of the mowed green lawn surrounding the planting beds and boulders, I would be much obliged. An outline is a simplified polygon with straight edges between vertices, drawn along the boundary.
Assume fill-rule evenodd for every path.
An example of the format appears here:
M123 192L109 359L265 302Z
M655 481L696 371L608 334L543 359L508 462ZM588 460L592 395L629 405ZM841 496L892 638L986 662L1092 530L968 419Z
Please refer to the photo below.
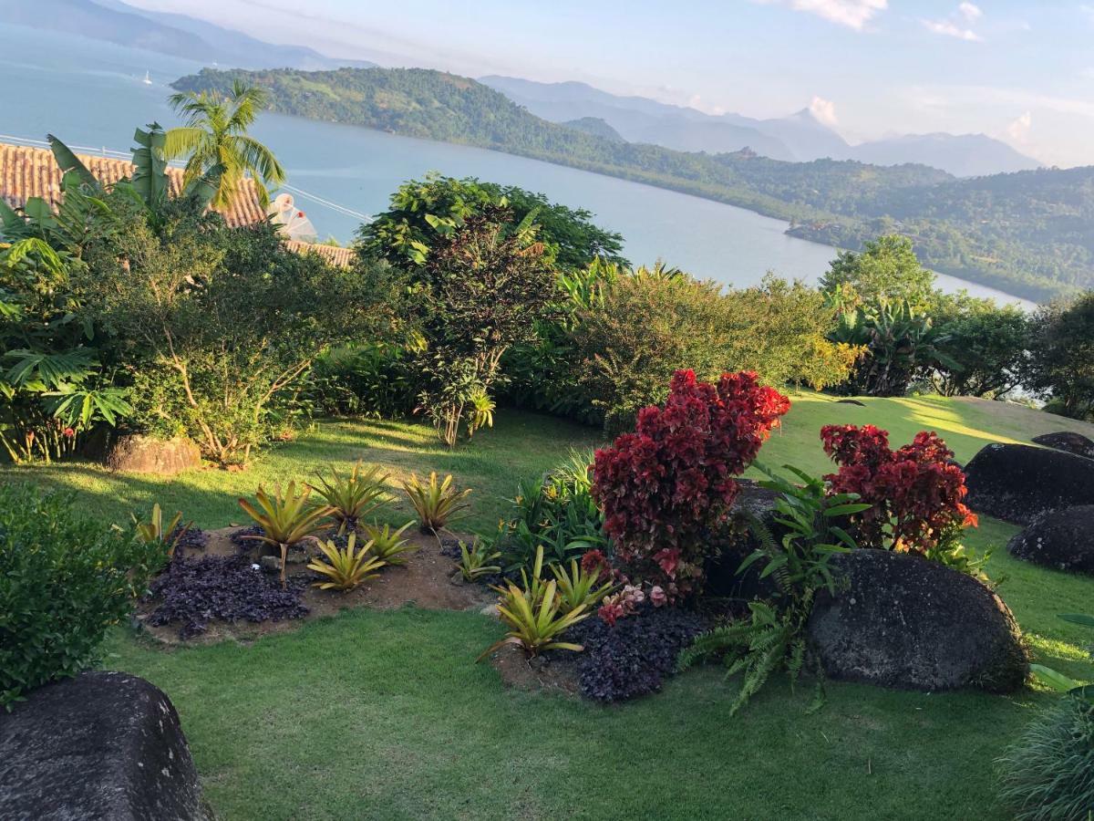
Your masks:
M864 400L858 407L798 395L760 459L830 470L817 437L829 423L872 423L901 444L942 435L961 461L989 441L1091 426L998 403L938 397ZM120 520L159 500L203 527L237 521L235 497L258 482L306 478L329 462L382 462L400 475L452 472L475 488L472 524L492 528L519 477L544 471L596 431L502 412L497 427L453 452L428 428L324 423L251 471L172 481L112 476L83 464L5 469L74 489ZM393 511L392 518L406 516ZM1038 660L1091 678L1084 631L1056 618L1094 612L1094 579L1016 562L1016 529L984 520L969 542L989 564ZM688 672L664 692L604 707L504 687L474 664L501 626L478 613L344 612L251 645L164 650L116 631L106 664L151 680L175 703L223 819L1004 819L993 760L1054 696L922 694L779 678L735 718L734 683Z

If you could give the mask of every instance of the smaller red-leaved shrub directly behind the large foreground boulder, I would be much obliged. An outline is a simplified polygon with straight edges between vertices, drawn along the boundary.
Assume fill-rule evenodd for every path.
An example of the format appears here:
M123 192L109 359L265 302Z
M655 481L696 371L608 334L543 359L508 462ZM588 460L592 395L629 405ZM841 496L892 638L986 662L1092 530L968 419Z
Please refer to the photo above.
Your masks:
M862 547L926 553L947 533L976 525L963 499L965 473L934 432L891 450L888 432L873 425L826 425L824 450L839 465L825 478L836 493L853 493L873 505L850 519Z

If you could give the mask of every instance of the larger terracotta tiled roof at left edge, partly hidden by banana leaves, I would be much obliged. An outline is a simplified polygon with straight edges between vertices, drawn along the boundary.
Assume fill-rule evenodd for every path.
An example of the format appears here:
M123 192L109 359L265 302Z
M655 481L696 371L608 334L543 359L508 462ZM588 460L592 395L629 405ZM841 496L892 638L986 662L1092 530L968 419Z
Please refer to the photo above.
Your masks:
M133 164L127 160L94 154L77 157L105 185L132 177ZM183 170L168 167L167 176L171 180L171 193L177 195L183 189ZM220 211L224 221L233 228L266 219L266 211L258 205L254 183L245 178L243 188L245 196L236 197L231 208ZM60 196L61 170L49 149L0 142L0 197L8 205L22 206L31 197L42 197L56 206Z

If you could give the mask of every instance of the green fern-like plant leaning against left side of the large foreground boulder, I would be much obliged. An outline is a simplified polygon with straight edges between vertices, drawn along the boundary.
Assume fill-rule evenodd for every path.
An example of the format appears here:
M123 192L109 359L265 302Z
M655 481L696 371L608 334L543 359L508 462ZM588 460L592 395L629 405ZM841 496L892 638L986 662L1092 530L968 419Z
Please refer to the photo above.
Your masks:
M741 564L737 573L746 573L761 564L760 577L772 577L778 592L770 603L749 602L747 620L699 636L680 654L678 661L678 668L684 670L699 659L721 656L729 668L726 678L743 673L741 691L730 715L741 709L778 669L785 669L791 682L795 682L807 663L817 674L813 708L819 707L824 696L823 680L819 667L808 660L806 624L817 591L835 589L829 559L858 546L838 522L870 507L858 501L854 494L830 493L822 479L795 467L787 465L787 470L802 481L801 486L760 470L770 478L759 484L779 494L775 502L775 522L780 525L782 536L777 541L771 530L753 517L749 524L759 547Z

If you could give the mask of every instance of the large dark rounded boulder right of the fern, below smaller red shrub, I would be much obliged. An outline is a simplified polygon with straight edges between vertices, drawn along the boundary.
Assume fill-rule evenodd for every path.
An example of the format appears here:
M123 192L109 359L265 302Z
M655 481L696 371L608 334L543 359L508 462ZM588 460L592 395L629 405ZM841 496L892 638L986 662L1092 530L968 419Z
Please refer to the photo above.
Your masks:
M833 679L928 692L1010 692L1029 671L1010 610L970 576L889 551L835 556L808 634Z

